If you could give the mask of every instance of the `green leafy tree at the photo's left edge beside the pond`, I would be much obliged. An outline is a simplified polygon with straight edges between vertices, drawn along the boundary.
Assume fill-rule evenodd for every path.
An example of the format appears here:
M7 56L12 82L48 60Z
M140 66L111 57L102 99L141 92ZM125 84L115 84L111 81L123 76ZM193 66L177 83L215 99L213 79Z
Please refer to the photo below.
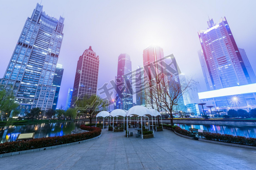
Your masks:
M10 113L19 105L14 102L13 87L0 85L0 112Z

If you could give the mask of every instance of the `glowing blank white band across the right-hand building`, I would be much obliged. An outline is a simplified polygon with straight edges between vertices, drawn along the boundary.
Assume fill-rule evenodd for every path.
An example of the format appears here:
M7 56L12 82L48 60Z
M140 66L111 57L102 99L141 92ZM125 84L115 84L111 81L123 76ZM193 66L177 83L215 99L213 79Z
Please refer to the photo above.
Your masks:
M208 99L213 97L240 95L240 94L247 94L247 93L256 93L256 83L200 92L198 93L198 97L199 99Z

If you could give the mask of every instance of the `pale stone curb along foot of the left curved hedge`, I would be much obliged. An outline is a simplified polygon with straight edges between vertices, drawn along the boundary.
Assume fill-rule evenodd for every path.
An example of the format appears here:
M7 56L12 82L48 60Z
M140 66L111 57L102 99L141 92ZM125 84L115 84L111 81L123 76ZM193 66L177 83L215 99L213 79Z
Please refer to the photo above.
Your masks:
M62 144L62 145L54 145L54 146L51 146L51 147L44 147L44 148L37 148L37 149L29 149L29 150L21 150L21 151L18 151L18 152L10 152L10 153L5 153L5 154L0 154L0 158L2 157L6 157L6 156L13 156L13 155L20 155L20 154L25 154L25 153L29 153L29 152L36 152L36 151L41 151L41 150L47 150L47 149L54 149L54 148L59 148L59 147L65 147L65 146L68 146L68 145L74 145L74 144L78 144L78 143L83 143L83 142L88 142L90 140L93 140L93 139L97 139L101 137L101 133L99 136L97 137L94 137L94 138L91 138L91 139L86 139L86 140L80 140L78 142L72 142L72 143L66 143L66 144Z

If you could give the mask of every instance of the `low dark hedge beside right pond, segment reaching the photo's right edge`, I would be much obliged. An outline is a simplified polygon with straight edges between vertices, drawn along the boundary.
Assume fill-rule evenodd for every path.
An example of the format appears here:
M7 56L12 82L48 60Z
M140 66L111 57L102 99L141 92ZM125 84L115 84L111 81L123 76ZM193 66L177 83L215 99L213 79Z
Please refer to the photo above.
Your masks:
M198 132L198 137L205 138L206 140L214 140L218 142L227 142L227 143L249 145L249 146L256 147L256 138L246 138L242 136L233 136L230 134L205 133L205 132Z

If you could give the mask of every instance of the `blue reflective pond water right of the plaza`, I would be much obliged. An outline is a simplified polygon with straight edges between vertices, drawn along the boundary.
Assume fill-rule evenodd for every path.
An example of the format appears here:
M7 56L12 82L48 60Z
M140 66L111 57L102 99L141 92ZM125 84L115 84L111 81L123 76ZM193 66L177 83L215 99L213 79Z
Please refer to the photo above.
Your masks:
M193 129L202 129L211 133L220 133L220 134L231 134L233 136L244 136L247 138L256 138L256 127L235 127L235 126L221 126L221 125L199 125L199 124L178 124L174 125L181 127L182 129L188 130L189 128Z

